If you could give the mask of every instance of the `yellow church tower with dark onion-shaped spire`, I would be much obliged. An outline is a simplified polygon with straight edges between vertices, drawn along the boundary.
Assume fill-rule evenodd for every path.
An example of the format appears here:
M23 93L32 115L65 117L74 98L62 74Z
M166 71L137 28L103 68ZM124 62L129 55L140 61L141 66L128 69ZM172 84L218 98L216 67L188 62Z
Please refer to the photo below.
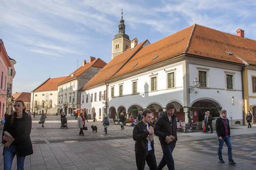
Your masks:
M115 35L112 40L112 59L127 50L130 46L129 36L126 34L126 25L125 20L123 19L123 9L122 9L122 17L119 23L119 33Z

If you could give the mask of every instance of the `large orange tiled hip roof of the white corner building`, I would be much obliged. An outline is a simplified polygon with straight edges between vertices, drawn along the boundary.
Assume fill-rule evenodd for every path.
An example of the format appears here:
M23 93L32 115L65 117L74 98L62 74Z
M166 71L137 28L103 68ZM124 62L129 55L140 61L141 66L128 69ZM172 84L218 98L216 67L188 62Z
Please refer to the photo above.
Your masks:
M244 64L236 56L229 55L227 51L239 56L249 64L256 65L255 40L194 24L162 40L142 47L109 80L185 53ZM153 60L155 56L158 57ZM135 64L136 66L133 67Z

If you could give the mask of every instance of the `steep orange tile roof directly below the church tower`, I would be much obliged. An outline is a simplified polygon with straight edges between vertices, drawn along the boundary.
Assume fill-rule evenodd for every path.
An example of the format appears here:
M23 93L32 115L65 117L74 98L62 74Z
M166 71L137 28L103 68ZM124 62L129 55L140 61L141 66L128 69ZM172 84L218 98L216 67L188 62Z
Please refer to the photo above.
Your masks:
M113 76L122 66L128 61L128 59L145 43L141 42L134 48L128 48L123 53L114 57L103 69L101 69L87 84L82 87L82 90L92 87L94 85L100 85Z

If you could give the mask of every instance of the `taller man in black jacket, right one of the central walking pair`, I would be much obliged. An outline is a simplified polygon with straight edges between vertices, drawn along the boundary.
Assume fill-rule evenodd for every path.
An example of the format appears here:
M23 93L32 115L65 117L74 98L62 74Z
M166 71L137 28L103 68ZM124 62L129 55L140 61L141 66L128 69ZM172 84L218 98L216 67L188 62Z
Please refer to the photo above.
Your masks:
M168 103L166 111L160 114L154 127L154 133L159 137L163 150L163 158L157 170L162 170L165 165L167 165L169 170L175 170L172 156L177 141L177 124L174 109L175 106L172 103Z

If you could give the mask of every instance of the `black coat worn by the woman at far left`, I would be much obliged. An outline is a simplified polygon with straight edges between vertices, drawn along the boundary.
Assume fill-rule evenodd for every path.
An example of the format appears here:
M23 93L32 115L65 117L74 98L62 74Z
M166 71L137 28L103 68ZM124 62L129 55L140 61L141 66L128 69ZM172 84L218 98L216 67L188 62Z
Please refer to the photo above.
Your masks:
M2 130L3 132L9 132L11 127L11 117L12 115L8 116L6 119ZM23 116L20 119L22 119L21 124L18 125L15 140L12 142L12 144L16 147L18 157L33 154L33 147L30 139L30 132L32 127L31 117L28 116L26 112L23 112ZM2 133L2 136L3 134L4 133Z

